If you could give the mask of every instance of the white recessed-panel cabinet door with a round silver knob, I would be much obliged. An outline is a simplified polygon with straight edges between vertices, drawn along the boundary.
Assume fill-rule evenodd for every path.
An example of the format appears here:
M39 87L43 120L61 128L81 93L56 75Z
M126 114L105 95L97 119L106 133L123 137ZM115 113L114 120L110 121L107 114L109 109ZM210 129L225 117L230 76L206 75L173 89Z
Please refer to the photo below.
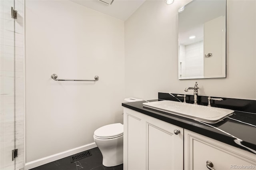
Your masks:
M183 128L148 117L146 146L146 169L183 170Z

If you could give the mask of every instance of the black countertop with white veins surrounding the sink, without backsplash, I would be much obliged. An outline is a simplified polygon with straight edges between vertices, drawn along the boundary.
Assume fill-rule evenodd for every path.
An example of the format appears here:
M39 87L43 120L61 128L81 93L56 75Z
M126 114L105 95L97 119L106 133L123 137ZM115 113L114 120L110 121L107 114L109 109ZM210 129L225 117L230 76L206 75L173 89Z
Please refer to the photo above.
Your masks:
M148 100L152 101L159 100ZM209 124L155 111L143 107L142 103L146 101L122 103L122 106L256 154L256 113L235 111L230 117Z

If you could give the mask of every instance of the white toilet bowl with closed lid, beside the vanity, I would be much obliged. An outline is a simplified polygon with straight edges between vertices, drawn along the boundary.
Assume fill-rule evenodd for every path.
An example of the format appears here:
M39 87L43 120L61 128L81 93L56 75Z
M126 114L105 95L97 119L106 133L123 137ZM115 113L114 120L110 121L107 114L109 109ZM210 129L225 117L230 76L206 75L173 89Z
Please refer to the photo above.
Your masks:
M123 163L124 125L114 123L94 131L94 141L102 153L104 166L117 166Z

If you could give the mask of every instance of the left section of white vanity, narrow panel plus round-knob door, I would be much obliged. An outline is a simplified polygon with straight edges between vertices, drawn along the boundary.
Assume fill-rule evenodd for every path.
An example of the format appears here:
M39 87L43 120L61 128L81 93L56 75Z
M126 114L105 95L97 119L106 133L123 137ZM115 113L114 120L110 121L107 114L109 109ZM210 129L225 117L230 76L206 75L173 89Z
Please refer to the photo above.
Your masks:
M124 170L183 170L183 132L124 108Z

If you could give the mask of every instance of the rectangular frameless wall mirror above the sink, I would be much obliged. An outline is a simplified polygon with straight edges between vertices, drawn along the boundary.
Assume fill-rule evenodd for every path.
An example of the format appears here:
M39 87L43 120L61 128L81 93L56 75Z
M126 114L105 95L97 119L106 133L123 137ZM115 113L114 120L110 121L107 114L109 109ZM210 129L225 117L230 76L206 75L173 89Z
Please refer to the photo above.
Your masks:
M178 77L226 77L226 0L193 0L178 14Z

